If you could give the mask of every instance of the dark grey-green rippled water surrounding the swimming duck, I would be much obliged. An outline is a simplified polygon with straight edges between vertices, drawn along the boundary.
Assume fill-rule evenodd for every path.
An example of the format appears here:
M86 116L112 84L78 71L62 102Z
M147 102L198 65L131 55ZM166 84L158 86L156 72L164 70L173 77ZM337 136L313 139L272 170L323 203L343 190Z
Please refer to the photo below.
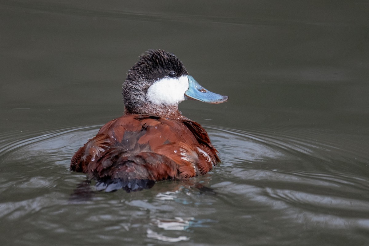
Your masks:
M369 245L367 1L0 3L2 245ZM70 158L148 48L227 103L180 104L222 163L96 192Z

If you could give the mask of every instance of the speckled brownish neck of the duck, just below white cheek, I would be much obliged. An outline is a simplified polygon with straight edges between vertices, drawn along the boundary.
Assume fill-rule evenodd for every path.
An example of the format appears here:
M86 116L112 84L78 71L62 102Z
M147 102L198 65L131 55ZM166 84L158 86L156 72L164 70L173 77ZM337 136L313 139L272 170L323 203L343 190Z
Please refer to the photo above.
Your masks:
M170 119L186 119L178 110L178 105L144 104L134 110L124 108L124 114L145 114Z

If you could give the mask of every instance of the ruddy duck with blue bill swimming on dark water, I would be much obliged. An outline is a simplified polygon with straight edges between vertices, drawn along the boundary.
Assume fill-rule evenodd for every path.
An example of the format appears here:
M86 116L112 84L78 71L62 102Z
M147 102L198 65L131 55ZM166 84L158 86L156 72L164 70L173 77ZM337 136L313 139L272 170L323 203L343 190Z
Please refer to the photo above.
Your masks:
M182 115L186 99L224 103L189 75L173 53L149 49L127 73L124 114L100 128L77 150L70 170L88 174L96 190L137 191L160 180L206 174L220 162L201 125Z

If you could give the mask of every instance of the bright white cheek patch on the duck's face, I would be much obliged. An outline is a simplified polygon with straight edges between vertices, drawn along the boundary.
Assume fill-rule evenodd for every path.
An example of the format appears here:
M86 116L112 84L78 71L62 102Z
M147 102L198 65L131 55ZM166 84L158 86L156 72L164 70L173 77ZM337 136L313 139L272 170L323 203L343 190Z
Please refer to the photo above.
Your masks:
M156 81L147 91L148 99L155 104L176 105L183 101L189 82L186 75L179 78L163 78Z

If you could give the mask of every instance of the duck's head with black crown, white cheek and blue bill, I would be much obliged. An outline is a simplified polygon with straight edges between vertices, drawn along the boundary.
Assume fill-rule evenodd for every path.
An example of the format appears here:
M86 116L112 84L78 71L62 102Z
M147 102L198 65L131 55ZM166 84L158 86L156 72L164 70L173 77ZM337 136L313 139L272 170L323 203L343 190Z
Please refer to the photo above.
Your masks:
M223 103L228 96L206 90L187 73L172 53L148 50L128 71L123 83L125 114L180 117L178 104L186 99Z

